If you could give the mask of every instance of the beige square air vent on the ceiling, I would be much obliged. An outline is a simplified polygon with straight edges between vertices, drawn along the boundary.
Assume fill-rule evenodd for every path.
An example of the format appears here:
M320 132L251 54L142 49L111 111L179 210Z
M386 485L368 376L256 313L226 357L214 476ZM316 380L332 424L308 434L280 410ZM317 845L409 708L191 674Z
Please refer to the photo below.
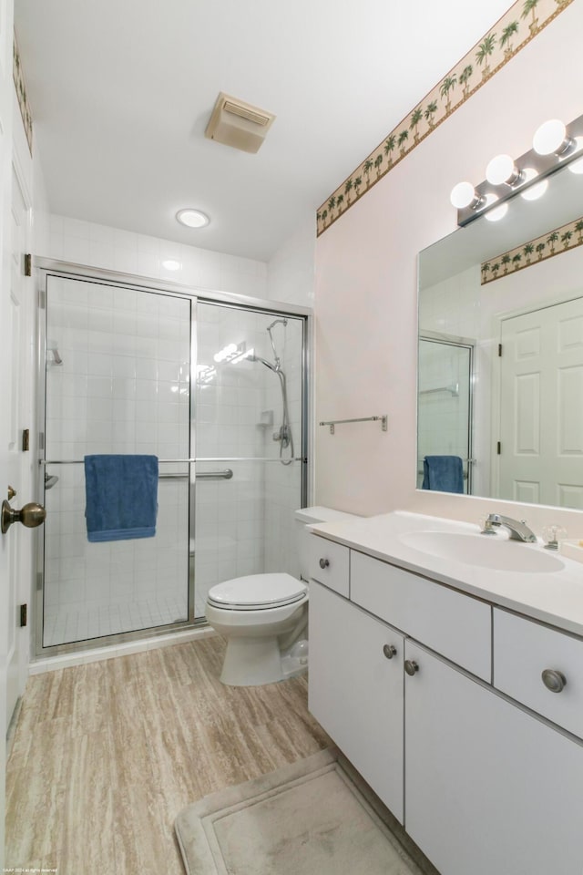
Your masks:
M274 118L271 112L221 91L204 135L233 149L257 152Z

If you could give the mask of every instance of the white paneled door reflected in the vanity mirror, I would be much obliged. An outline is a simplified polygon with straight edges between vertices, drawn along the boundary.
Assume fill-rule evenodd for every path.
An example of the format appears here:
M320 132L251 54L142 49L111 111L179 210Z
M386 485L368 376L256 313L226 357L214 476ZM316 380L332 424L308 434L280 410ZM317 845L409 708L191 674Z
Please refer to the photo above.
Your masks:
M583 298L501 324L498 496L583 510Z

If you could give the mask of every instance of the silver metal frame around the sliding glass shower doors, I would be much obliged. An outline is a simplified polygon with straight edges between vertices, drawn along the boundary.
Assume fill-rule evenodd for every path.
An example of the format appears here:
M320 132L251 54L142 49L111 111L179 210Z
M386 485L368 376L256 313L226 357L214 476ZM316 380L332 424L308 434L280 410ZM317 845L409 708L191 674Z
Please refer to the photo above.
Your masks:
M137 292L158 293L173 295L186 299L190 303L190 396L189 396L189 458L172 459L172 461L184 461L189 464L189 473L184 478L189 479L189 582L188 582L188 618L177 623L166 623L159 626L132 630L131 632L113 633L101 637L88 638L82 641L67 642L61 644L43 645L44 625L44 595L45 595L45 531L44 527L36 530L36 580L35 592L32 604L34 610L36 658L56 656L60 654L82 653L96 647L106 647L120 643L146 640L173 632L183 632L189 629L204 627L207 625L203 618L196 619L195 612L195 552L190 550L190 544L195 538L195 490L196 490L196 465L201 461L227 462L230 460L244 460L242 457L230 458L197 458L196 456L196 362L197 362L197 319L196 306L198 302L221 304L230 308L240 308L245 311L257 313L277 314L302 319L302 436L301 452L294 458L301 463L301 507L306 507L308 497L312 494L311 466L309 459L312 458L311 431L308 427L308 414L310 410L310 364L312 361L312 311L308 307L294 304L280 304L266 301L262 298L254 298L250 295L234 293L210 292L197 289L181 283L162 282L150 280L146 277L132 274L117 273L113 271L99 270L71 262L61 262L54 259L36 258L33 262L37 277L38 293L38 331L37 331L37 461L38 461L38 489L39 495L45 494L45 427L46 427L46 288L48 277L55 276L68 280L78 280L87 283L107 284L117 288L129 289ZM251 460L251 459L247 459ZM279 458L256 458L254 461L280 462ZM53 460L53 464L55 461ZM65 459L60 464L83 464L82 459Z

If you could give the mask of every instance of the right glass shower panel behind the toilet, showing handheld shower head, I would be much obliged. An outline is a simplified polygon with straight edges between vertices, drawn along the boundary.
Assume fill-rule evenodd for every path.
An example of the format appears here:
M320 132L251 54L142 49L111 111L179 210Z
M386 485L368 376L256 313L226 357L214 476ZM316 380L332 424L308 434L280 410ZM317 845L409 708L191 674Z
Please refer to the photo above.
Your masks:
M197 304L195 607L262 571L299 575L304 319Z

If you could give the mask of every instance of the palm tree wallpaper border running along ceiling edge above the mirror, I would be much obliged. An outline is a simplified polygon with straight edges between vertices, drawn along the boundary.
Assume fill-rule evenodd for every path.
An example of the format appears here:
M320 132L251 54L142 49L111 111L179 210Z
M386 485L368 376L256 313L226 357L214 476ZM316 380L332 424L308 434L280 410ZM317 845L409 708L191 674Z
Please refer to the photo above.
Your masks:
M527 46L573 0L517 0L316 212L316 236ZM478 75L479 74L479 75Z

